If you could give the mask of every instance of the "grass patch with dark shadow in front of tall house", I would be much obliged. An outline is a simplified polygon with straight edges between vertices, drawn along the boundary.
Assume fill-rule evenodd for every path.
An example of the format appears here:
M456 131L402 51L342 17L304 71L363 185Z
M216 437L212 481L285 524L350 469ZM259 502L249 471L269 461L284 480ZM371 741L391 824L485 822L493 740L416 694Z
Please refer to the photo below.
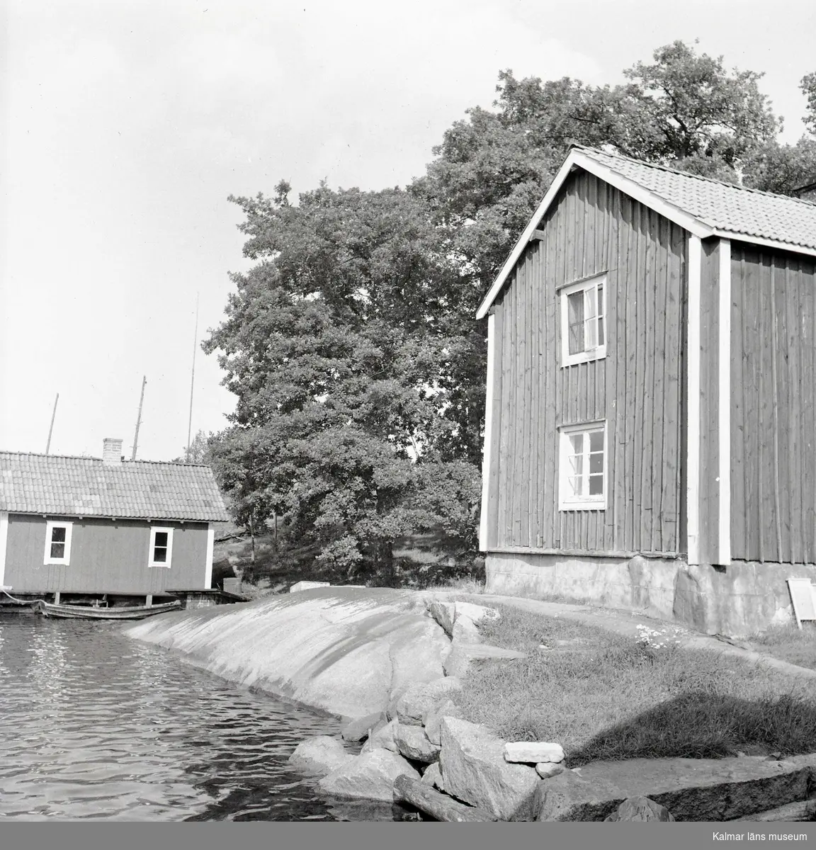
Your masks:
M662 649L497 604L484 640L529 654L472 668L464 716L505 740L596 759L816 751L816 684L717 653ZM541 644L549 649L539 649Z

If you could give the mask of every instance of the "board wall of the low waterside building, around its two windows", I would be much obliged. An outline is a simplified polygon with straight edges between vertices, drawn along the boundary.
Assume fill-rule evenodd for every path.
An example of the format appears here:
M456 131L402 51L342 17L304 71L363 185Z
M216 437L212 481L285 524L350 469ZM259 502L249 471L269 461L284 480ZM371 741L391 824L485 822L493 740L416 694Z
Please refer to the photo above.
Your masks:
M8 518L6 581L25 592L150 593L204 587L207 523L156 522L173 528L170 567L149 567L150 525L137 520L65 519L73 523L71 563L43 564L46 520Z

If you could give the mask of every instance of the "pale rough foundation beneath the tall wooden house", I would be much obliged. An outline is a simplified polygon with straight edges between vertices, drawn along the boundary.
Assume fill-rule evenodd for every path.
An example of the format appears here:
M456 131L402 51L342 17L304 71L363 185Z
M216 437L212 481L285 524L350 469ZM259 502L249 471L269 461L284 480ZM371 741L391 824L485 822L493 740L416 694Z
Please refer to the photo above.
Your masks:
M488 593L554 596L735 636L792 622L786 580L816 581L813 564L751 561L713 567L689 565L681 558L487 553L484 566Z

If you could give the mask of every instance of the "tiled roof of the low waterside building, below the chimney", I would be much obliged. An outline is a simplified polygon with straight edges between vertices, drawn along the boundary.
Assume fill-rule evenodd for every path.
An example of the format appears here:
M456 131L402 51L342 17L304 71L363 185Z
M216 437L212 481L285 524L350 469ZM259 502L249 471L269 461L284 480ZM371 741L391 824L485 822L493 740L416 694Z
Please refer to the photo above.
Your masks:
M210 467L0 451L0 511L80 517L229 519Z

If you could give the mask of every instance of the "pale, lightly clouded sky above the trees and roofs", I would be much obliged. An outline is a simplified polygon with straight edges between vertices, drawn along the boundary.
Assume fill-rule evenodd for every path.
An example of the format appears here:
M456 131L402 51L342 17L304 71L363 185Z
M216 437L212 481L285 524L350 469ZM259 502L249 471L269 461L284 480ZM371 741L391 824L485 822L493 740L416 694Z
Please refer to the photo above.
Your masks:
M783 139L812 0L0 0L0 450L184 452L234 396L195 343L242 257L228 195L405 185L499 71L621 82L677 38L764 71ZM198 326L195 316L198 304Z

